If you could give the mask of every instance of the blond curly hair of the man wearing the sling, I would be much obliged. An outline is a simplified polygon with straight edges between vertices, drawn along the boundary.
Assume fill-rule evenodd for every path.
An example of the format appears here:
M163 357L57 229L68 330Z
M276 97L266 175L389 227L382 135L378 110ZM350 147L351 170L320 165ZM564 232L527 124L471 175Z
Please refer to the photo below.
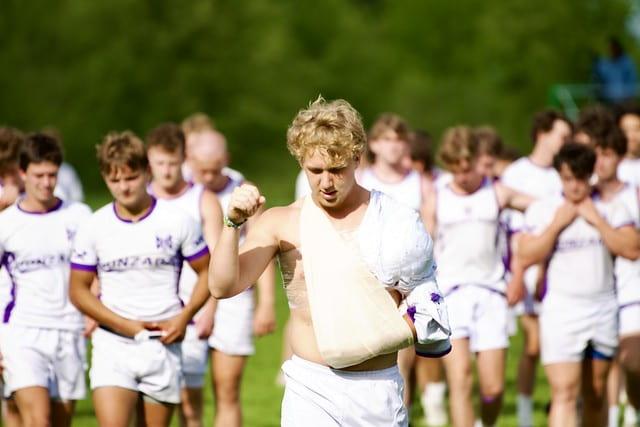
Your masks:
M300 110L287 130L287 148L302 165L320 153L332 167L359 159L367 143L360 114L347 101L321 96Z

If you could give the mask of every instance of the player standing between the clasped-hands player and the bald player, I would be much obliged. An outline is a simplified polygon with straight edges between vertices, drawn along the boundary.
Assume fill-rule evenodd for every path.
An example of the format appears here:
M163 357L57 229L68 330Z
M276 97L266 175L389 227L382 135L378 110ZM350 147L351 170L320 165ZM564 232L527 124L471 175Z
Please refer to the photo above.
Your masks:
M147 135L146 149L152 174L150 193L160 201L187 212L201 224L207 246L215 247L222 227L220 203L216 195L202 184L187 182L182 177L185 139L180 126L165 123L153 129ZM179 287L180 299L184 303L191 299L197 280L198 276L189 263L183 262ZM194 317L194 322L187 326L185 339L182 341L185 386L182 389L179 415L183 426L202 425L202 386L209 356L207 338L213 329L214 314L215 300L209 298Z

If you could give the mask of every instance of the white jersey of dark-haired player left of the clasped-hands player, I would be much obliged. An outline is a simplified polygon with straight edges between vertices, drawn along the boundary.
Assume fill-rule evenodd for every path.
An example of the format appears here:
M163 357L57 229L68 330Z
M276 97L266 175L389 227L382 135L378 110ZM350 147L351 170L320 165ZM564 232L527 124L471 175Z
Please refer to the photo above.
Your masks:
M14 204L0 214L0 254L11 281L4 323L82 329L82 315L69 301L69 256L76 229L90 214L88 206L62 200L47 213Z

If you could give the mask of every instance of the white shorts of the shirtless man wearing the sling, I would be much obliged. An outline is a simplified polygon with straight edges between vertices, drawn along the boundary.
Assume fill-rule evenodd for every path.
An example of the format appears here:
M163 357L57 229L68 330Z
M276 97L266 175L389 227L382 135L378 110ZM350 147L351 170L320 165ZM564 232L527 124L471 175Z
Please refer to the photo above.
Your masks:
M293 356L282 371L282 427L408 425L397 366L345 372Z

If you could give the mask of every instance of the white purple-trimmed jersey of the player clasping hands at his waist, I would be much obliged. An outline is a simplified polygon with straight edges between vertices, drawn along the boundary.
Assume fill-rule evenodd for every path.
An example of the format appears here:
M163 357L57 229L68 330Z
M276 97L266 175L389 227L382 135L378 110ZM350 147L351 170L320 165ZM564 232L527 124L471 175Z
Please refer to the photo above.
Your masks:
M153 199L149 212L131 222L110 203L78 229L71 267L97 272L100 299L114 313L154 321L181 311L182 262L207 253L200 224L182 210Z

